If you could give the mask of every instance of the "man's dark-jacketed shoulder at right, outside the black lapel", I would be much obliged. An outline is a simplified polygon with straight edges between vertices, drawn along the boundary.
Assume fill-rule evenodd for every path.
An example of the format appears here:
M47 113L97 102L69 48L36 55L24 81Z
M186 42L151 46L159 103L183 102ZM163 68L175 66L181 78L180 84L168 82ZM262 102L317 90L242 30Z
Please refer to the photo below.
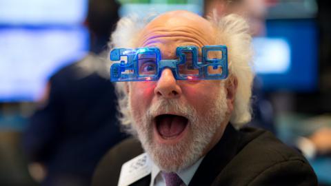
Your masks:
M238 153L220 180L228 185L317 185L308 161L273 134L253 128L240 132Z

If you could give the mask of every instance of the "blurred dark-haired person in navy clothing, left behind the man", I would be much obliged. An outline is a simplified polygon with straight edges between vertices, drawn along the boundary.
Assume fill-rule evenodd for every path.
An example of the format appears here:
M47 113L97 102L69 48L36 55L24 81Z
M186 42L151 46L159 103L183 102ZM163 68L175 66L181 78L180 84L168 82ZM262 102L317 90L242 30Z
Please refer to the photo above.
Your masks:
M30 118L23 147L41 185L90 185L99 158L125 138L103 49L119 19L116 1L90 0L90 53L54 74ZM66 46L63 46L66 47Z

